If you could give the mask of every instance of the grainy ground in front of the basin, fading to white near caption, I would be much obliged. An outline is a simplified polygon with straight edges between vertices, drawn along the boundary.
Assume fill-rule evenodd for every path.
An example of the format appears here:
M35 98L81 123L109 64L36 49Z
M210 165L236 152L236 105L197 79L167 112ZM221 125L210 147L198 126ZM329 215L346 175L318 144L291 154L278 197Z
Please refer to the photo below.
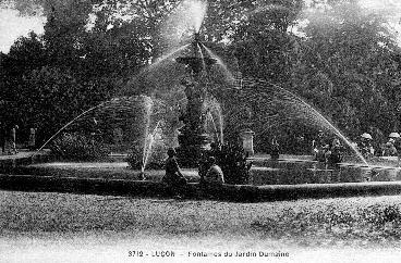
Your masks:
M398 196L234 203L0 191L0 261L66 251L127 260L133 249L387 251L401 245L400 206Z

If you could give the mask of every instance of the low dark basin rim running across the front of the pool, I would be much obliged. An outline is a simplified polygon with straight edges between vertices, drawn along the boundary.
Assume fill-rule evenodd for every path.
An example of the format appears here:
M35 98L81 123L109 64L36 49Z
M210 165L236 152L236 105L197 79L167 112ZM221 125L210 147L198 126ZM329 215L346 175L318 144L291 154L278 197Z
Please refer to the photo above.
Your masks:
M0 189L17 191L57 191L85 195L171 197L165 184L151 180L76 178L36 175L0 175ZM369 181L306 185L222 185L205 192L198 183L191 183L186 198L218 199L236 202L296 200L353 196L400 195L401 181Z

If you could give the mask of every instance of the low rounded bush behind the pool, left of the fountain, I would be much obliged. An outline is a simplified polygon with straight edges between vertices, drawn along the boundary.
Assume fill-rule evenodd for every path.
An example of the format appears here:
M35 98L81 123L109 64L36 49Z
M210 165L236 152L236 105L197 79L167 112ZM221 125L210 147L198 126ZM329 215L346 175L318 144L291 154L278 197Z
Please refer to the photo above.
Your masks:
M108 155L101 142L81 133L63 134L50 145L50 149L51 154L61 160L95 161Z

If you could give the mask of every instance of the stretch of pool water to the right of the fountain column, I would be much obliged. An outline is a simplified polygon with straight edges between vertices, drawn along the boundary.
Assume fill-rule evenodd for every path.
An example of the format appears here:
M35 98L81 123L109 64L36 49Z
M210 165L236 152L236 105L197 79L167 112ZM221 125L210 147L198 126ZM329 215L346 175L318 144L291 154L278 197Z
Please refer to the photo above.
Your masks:
M314 161L267 160L251 168L250 184L297 185L401 180L401 168L359 164L326 165Z

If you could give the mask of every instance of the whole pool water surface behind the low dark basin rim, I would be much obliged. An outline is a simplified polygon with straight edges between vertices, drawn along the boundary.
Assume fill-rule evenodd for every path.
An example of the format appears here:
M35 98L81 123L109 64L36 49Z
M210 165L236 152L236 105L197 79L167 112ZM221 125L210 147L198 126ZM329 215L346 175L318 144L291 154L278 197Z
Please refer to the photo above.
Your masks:
M401 180L401 168L394 166L366 166L347 164L329 166L308 159L281 159L272 161L254 159L251 168L250 185L300 185L300 184L335 184L362 181ZM136 179L138 171L126 168L126 162L110 163L40 163L20 167L19 174L46 176L90 177ZM163 171L146 171L148 179L160 180ZM191 181L198 181L197 170L183 170Z

